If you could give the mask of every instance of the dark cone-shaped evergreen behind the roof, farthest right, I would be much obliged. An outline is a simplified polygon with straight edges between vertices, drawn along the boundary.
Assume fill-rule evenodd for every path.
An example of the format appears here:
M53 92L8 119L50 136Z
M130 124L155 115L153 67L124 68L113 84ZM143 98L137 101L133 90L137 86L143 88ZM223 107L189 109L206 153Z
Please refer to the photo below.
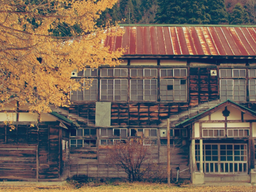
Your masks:
M249 14L246 12L245 8L240 3L234 5L232 13L230 14L229 24L250 24Z

